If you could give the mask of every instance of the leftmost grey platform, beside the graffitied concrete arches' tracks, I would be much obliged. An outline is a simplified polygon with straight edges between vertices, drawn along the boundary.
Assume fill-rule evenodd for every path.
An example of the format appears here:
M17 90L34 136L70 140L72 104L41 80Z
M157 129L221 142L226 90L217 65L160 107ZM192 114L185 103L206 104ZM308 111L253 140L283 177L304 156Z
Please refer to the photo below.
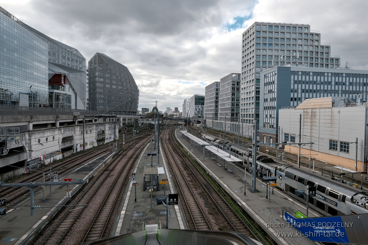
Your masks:
M115 152L105 153L96 159L89 161L84 166L79 167L67 176L59 176L59 182L64 182L64 178L74 178L89 180L98 171L108 163ZM52 172L57 170L52 170ZM50 178L50 177L48 177ZM80 185L56 185L45 187L45 201L43 191L35 192L34 205L42 206L43 208L33 210L31 216L30 198L20 203L14 209L7 209L6 215L0 216L0 244L6 245L22 245L30 238L38 234L38 232L45 226L48 220L52 219L57 213L58 209L68 201L67 192L71 195L78 191ZM1 191L1 188L0 188Z

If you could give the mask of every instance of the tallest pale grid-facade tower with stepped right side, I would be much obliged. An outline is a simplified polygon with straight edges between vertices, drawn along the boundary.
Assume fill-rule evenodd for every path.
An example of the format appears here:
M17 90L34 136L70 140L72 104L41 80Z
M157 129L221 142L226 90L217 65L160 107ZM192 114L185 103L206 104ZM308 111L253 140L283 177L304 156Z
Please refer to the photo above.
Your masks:
M259 120L260 72L290 63L340 68L340 57L331 55L330 44L322 43L321 33L310 25L255 22L243 32L240 113L245 128ZM245 135L251 136L251 131Z

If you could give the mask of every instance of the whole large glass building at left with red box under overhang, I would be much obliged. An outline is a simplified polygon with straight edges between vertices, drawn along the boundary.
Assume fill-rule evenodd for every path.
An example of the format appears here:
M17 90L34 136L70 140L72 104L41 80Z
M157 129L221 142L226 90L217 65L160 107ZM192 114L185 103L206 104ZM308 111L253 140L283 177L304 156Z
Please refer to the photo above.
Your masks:
M1 104L84 109L86 60L81 53L1 7L0 15Z

